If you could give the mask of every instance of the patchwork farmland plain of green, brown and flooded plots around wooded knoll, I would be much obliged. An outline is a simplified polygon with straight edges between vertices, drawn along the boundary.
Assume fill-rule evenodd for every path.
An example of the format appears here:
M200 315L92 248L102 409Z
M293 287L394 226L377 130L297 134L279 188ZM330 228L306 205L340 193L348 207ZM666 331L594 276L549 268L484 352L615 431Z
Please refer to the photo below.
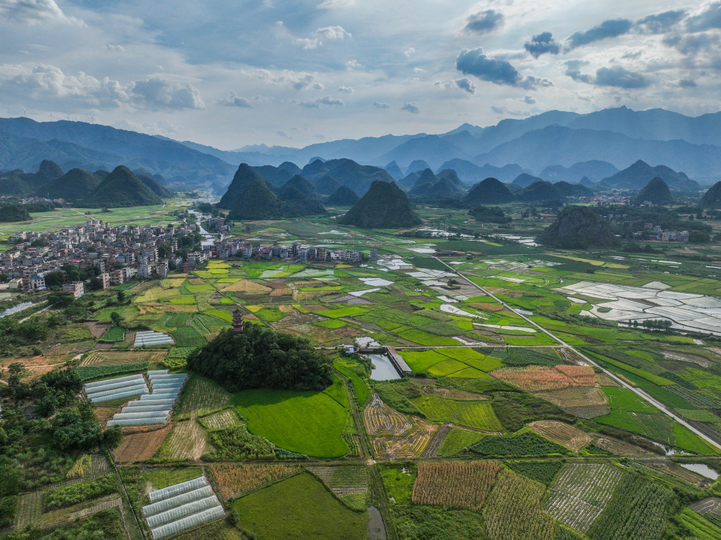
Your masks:
M658 301L651 309L660 318L678 309L689 316L706 310L709 320L718 318L717 241L649 240L648 252L645 247L632 252L624 238L618 251L549 254L508 237L494 238L505 225L469 219L466 209L415 206L429 227L466 236L361 231L328 216L249 223L250 234L245 223L236 223L226 238L249 239L254 247L322 242L332 251L361 249L365 260L355 265L230 257L199 262L187 274L169 273L162 280L87 291L79 305L87 302L83 309L92 323L77 322L86 314L71 317L68 311L51 321L60 321L59 326L48 324L47 343L37 343L42 353L34 350L35 340L17 349L18 361L30 371L20 377L30 385L30 398L16 399L6 387L3 426L12 442L5 448L6 477L14 482L17 476L19 496L17 513L12 495L0 497L0 519L12 514L23 524L60 523L82 509L60 508L48 515L37 487L87 481L94 474L88 456L97 450L74 449L61 456L61 449L48 445L64 404L47 421L25 419L30 410L24 407L39 394L32 383L37 376L65 362L83 382L149 369L185 371L188 356L228 328L237 307L247 326L301 336L327 351L333 384L312 392L260 384L231 394L221 386L224 381L190 373L172 422L159 429L123 428L112 455L136 508L147 502L146 490L205 474L226 510L238 510L178 535L179 540L719 536L721 511L701 515L695 503L717 497L719 483L680 465L698 460L717 469L715 448L586 365L574 350L709 437L721 438L721 417L715 415L721 410L717 337L649 329L642 321L622 326L611 318L633 303L634 309L647 309L636 305L645 298ZM605 205L597 208L606 211ZM165 212L179 223L174 210ZM636 210L624 207L624 212ZM513 220L503 234L524 239L537 238L554 213L539 207L538 216L523 217L530 208L521 203L503 205L503 211ZM676 212L676 206L668 211ZM704 211L702 217L686 226L710 223L712 237L721 230L712 213ZM476 232L479 239L473 239ZM454 248L470 252L432 255ZM378 251L378 260L368 260L371 249ZM120 291L125 296L118 296ZM624 298L611 307L614 301L607 297L624 291L639 302ZM113 311L121 320L111 319ZM34 317L47 322L51 313ZM531 327L521 314L570 347ZM132 350L126 337L145 329L171 335L174 343ZM340 345L350 344L394 347L412 375L376 381L368 358L342 352ZM6 371L13 360L4 362ZM48 387L54 380L48 377ZM45 406L51 409L49 401ZM118 400L94 406L103 427L121 405ZM654 443L677 453L664 458ZM376 510L366 513L371 504ZM128 508L124 511L125 525L132 525ZM388 528L385 539L379 523ZM128 533L130 540L141 538Z

